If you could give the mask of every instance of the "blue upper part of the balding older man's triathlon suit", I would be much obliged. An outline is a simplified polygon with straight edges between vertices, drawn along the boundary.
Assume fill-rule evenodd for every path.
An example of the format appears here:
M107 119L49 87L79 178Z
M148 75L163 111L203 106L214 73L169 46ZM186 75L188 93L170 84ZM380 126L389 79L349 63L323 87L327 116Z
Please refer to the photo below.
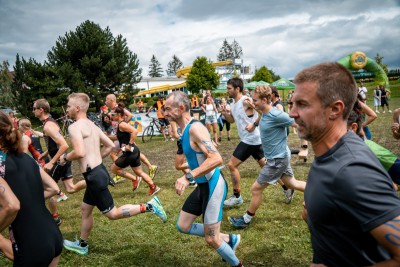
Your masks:
M182 136L180 137L182 141L183 153L185 154L186 160L191 170L199 167L207 159L207 156L204 155L203 152L196 151L190 146L189 130L193 123L200 123L200 122L197 120L192 120L191 122L189 122L189 124L186 125L186 128L183 131ZM220 175L219 168L215 168L211 172L203 176L197 177L196 182L199 184L211 182L211 180L213 179L218 179L219 175Z

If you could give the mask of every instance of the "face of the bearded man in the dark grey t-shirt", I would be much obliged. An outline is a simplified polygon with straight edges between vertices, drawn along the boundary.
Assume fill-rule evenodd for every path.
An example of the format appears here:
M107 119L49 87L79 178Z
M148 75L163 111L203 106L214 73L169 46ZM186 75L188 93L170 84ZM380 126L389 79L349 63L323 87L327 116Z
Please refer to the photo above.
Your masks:
M327 129L329 118L327 108L323 108L317 96L317 84L304 82L296 84L293 94L293 108L289 116L294 118L298 125L297 131L300 138L311 143L320 140Z

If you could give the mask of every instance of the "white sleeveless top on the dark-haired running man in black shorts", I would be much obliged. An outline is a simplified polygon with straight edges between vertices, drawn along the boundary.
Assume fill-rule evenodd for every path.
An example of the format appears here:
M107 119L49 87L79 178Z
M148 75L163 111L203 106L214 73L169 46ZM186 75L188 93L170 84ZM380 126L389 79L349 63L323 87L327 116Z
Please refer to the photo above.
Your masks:
M247 96L242 96L236 103L231 104L232 116L236 122L240 141L248 145L261 145L260 130L258 127L251 133L246 131L246 126L254 123L258 117L257 112L250 118L244 111L243 101L247 98Z

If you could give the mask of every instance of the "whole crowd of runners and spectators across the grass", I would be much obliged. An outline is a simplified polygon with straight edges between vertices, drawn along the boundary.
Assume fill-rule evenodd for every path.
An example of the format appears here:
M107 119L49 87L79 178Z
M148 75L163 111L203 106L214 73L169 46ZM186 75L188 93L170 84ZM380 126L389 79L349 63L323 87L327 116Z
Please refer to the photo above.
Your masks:
M247 228L263 203L263 191L279 183L288 204L295 190L304 192L302 215L313 250L310 266L400 265L400 199L396 194L400 159L371 141L368 128L377 118L379 106L382 113L385 105L391 112L390 91L384 87L374 90L374 112L365 103L367 89L362 83L357 88L351 73L338 63L303 69L294 81L288 113L276 88L258 85L253 92L246 92L240 78L227 82L231 104L226 99L217 101L209 90L200 101L176 91L166 99L159 97L147 111L142 108L147 113L156 109L162 127L171 133L164 139L176 140L177 151L171 155L175 168L183 171L175 182L176 194L181 196L194 185L179 213L177 231L203 237L227 264L244 266L236 256L241 235L221 229L223 210L243 204L242 190L251 192L243 215L228 218L233 227ZM87 94L73 93L66 102L67 115L74 120L68 128L71 147L51 117L46 99L32 103L43 132L33 130L28 119L18 121L14 114L0 112L0 231L9 227L9 238L0 235L0 250L14 266L57 266L62 247L87 255L95 207L110 220L152 213L167 221L156 196L162 191L153 181L158 167L141 153L136 143L138 130L128 123L133 115L124 103L117 103L113 94L106 97L101 109L104 129L100 129L87 117ZM191 117L190 109L198 107L205 113L204 124ZM231 123L235 123L240 141L227 163L232 190L227 198L228 183L221 171L223 158L218 147L224 126L226 139L231 141ZM290 164L290 127L296 129L302 145L310 143L315 154L306 182L295 178ZM393 113L391 131L400 139L400 109ZM45 150L38 141L40 136ZM103 163L107 156L112 160L108 168ZM250 156L260 172L251 188L242 188L239 166ZM142 162L148 172L142 169ZM84 180L74 183L72 164L77 164ZM127 170L129 166L133 174ZM116 207L108 189L115 186L115 180L108 169L129 179L133 191L144 180L151 199ZM63 240L58 227L62 219L57 202L66 198L59 181L69 194L85 190L80 236L73 241ZM203 216L202 223L195 222L199 216ZM33 242L38 239L43 241L39 245Z

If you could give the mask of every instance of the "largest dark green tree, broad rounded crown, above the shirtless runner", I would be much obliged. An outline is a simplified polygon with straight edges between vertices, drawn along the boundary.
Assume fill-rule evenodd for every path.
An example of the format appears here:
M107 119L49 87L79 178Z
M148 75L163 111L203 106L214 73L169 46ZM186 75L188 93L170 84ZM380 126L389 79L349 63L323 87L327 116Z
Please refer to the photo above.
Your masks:
M46 72L62 81L62 90L87 93L96 108L107 94L133 88L142 78L137 55L129 50L126 39L89 20L60 36L47 59Z

